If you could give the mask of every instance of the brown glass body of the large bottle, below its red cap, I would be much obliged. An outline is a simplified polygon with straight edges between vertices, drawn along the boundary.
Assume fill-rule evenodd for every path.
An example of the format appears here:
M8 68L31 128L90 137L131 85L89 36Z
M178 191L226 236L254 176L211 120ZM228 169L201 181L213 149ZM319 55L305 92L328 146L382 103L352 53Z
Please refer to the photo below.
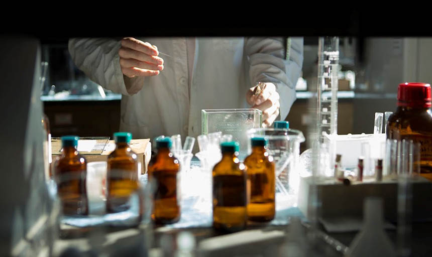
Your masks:
M429 108L397 107L388 119L387 138L413 140L420 146L420 175L432 180L432 112ZM395 172L395 171L393 171Z

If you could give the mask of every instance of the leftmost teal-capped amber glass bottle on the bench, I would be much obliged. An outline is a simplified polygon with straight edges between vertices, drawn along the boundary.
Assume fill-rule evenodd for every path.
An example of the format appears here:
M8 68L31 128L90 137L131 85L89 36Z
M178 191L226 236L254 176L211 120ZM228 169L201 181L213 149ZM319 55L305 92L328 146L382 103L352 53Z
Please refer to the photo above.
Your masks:
M57 193L65 215L88 215L87 162L77 151L78 139L61 138L63 152L55 163Z

